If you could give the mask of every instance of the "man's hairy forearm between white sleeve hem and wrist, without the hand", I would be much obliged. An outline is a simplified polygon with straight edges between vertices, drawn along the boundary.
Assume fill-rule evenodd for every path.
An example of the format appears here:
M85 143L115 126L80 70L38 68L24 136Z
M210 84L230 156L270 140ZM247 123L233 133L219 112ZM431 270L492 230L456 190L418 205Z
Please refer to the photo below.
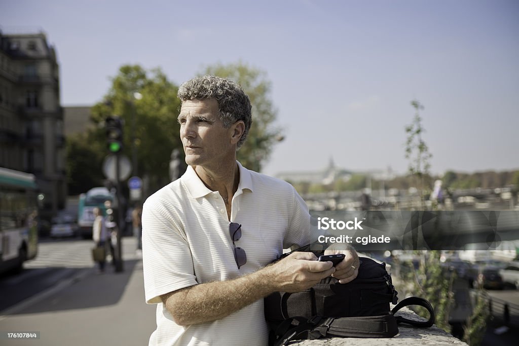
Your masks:
M161 298L178 325L211 322L276 292L268 276L266 267L237 279L199 284Z

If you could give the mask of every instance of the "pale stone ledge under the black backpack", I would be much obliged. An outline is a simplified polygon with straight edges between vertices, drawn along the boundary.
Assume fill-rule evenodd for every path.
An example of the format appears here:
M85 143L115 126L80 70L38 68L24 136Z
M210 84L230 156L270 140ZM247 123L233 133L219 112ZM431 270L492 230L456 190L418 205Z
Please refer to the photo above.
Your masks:
M397 315L403 315L410 320L420 319L414 312L402 308ZM456 339L445 330L433 325L431 328L415 328L407 324L398 326L399 334L392 338L328 338L318 340L301 340L290 345L298 346L402 346L402 345L459 345L468 346L465 342Z

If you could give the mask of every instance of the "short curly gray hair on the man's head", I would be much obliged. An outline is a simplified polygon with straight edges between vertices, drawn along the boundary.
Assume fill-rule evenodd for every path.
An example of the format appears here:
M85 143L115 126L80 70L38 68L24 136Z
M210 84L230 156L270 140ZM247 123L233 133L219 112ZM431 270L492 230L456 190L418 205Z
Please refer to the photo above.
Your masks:
M237 147L240 148L245 142L252 124L252 105L249 96L234 81L210 75L195 77L179 87L177 96L182 102L215 99L218 102L220 119L226 129L238 120L245 123L245 130Z

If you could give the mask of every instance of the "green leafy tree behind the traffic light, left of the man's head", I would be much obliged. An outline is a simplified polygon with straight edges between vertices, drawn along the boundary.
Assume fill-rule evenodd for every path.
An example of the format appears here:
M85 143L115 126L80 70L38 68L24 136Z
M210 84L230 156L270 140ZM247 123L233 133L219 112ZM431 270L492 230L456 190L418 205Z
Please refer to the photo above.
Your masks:
M104 120L110 115L124 119L123 153L132 158L134 141L138 168L133 174L149 179L148 193L169 182L171 151L182 149L177 123L180 107L177 90L178 87L159 68L146 71L139 65L124 65L112 78L112 86L104 100L92 107L92 120L99 126L90 136L97 137L102 143L100 151L103 154L106 153ZM136 95L139 98L135 98Z

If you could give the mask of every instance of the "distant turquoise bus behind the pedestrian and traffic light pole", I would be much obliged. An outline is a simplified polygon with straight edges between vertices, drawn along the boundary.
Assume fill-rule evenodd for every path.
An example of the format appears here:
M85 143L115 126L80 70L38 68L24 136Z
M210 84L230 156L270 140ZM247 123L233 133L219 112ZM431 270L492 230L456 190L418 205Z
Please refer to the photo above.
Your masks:
M87 193L79 195L77 210L77 224L81 237L87 239L92 237L92 225L94 223L93 210L98 207L103 215L106 211L105 202L113 202L113 196L106 187L94 187Z

